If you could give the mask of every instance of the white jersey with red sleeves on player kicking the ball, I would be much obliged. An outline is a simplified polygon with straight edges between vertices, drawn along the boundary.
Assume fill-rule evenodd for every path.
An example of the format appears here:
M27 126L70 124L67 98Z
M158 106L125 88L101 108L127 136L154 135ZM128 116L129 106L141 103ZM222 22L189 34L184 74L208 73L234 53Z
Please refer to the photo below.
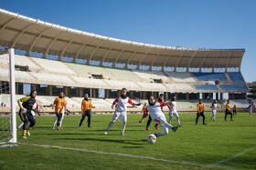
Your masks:
M165 105L166 104L162 102L155 102L155 105L147 105L146 109L149 112L152 120L155 120L157 117L165 117L165 114L161 110L161 107Z

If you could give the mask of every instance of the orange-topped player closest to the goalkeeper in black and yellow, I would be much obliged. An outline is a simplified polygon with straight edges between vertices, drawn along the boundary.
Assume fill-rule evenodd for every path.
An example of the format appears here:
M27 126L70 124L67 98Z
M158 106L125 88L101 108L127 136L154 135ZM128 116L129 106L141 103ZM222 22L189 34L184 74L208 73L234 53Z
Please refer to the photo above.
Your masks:
M62 114L64 114L63 112L63 108L65 107L65 110L67 110L67 105L66 105L66 100L64 97L64 93L60 92L59 97L57 97L54 102L53 102L53 106L52 108L55 107L55 114L58 117L58 121L57 121L57 130L60 130L60 121L62 118Z

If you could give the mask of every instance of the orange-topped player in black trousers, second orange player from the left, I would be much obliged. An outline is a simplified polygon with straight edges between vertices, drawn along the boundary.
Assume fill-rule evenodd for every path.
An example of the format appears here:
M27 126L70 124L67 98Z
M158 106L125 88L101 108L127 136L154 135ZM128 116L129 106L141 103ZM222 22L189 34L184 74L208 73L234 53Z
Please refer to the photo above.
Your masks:
M91 100L88 98L88 94L84 95L84 99L81 101L81 119L80 119L80 125L79 128L85 119L86 116L88 116L88 127L91 128L91 108L95 108L91 104Z

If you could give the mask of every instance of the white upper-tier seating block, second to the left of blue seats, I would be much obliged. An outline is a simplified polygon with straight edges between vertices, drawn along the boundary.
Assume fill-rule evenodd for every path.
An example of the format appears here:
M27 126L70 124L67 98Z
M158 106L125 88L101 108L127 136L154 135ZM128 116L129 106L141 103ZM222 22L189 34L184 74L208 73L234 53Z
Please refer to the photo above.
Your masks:
M145 80L153 80L153 79L162 79L163 82L169 82L167 76L163 72L160 71L143 71L143 70L133 70L133 73L141 77L141 79Z

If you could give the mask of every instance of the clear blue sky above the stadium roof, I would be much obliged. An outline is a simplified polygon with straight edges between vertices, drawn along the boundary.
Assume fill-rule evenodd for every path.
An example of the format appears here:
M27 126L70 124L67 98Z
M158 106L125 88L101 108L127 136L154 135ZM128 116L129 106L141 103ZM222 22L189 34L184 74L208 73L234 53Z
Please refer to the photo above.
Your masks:
M241 73L256 81L256 0L7 0L0 7L140 43L245 48Z

